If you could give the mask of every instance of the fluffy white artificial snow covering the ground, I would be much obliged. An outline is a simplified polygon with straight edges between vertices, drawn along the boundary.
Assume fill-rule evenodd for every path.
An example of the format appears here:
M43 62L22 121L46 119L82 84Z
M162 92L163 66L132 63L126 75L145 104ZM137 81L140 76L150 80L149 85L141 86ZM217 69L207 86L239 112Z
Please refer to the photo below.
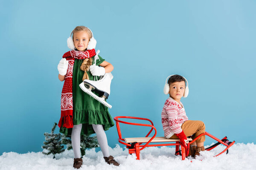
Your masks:
M207 146L206 146L207 147ZM110 148L110 153L119 167L105 163L102 152L95 149L86 151L81 170L256 170L256 144L238 143L229 149L229 153L218 157L215 154L224 150L218 146L211 151L201 153L197 159L181 160L175 156L174 147L147 147L141 151L141 159L135 155L128 155L125 147L116 145ZM41 152L19 154L14 152L3 153L0 156L0 170L74 170L73 150L56 155L45 156Z

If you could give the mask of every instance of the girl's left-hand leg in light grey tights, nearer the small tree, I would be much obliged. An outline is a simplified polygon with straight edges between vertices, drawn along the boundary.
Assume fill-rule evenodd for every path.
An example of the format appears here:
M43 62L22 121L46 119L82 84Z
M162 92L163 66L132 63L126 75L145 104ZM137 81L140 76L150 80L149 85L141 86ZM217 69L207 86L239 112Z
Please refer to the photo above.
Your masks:
M71 142L75 158L81 158L80 139L81 139L82 124L74 125L71 133Z

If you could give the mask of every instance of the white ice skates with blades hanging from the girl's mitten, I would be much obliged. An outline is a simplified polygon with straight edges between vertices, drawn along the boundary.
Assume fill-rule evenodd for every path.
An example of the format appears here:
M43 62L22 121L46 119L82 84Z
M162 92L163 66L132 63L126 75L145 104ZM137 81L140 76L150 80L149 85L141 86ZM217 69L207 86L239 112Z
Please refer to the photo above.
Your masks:
M79 86L85 93L89 94L108 108L112 108L112 106L105 101L105 99L108 99L110 94L112 79L113 75L111 73L105 73L99 80L93 81L85 79ZM98 93L99 96L94 94L92 91Z

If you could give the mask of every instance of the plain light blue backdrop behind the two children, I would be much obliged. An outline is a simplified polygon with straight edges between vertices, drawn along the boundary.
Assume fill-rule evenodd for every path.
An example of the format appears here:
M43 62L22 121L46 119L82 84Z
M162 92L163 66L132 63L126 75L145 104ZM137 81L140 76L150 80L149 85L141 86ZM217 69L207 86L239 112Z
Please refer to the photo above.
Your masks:
M254 142L255 8L254 0L1 0L0 154L42 150L44 132L60 118L57 65L80 25L114 66L112 117L149 118L163 136L163 86L180 74L189 81L181 99L189 119L218 138ZM122 129L123 137L145 131ZM106 134L114 147L116 127Z

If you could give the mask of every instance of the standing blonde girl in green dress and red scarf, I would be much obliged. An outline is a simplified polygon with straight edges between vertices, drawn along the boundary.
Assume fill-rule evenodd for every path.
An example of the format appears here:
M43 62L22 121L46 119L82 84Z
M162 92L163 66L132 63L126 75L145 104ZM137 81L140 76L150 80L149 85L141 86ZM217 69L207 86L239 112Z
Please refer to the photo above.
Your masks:
M65 53L58 64L58 78L60 81L65 80L61 92L61 119L58 123L60 132L71 134L75 155L74 168L80 168L83 161L80 154L80 135L93 133L96 133L105 161L119 166L108 153L108 141L104 130L114 125L108 108L79 88L84 79L93 80L93 76L111 72L113 65L100 56L96 65L92 65L96 55L96 40L89 28L77 26L71 35L67 43L73 51Z

